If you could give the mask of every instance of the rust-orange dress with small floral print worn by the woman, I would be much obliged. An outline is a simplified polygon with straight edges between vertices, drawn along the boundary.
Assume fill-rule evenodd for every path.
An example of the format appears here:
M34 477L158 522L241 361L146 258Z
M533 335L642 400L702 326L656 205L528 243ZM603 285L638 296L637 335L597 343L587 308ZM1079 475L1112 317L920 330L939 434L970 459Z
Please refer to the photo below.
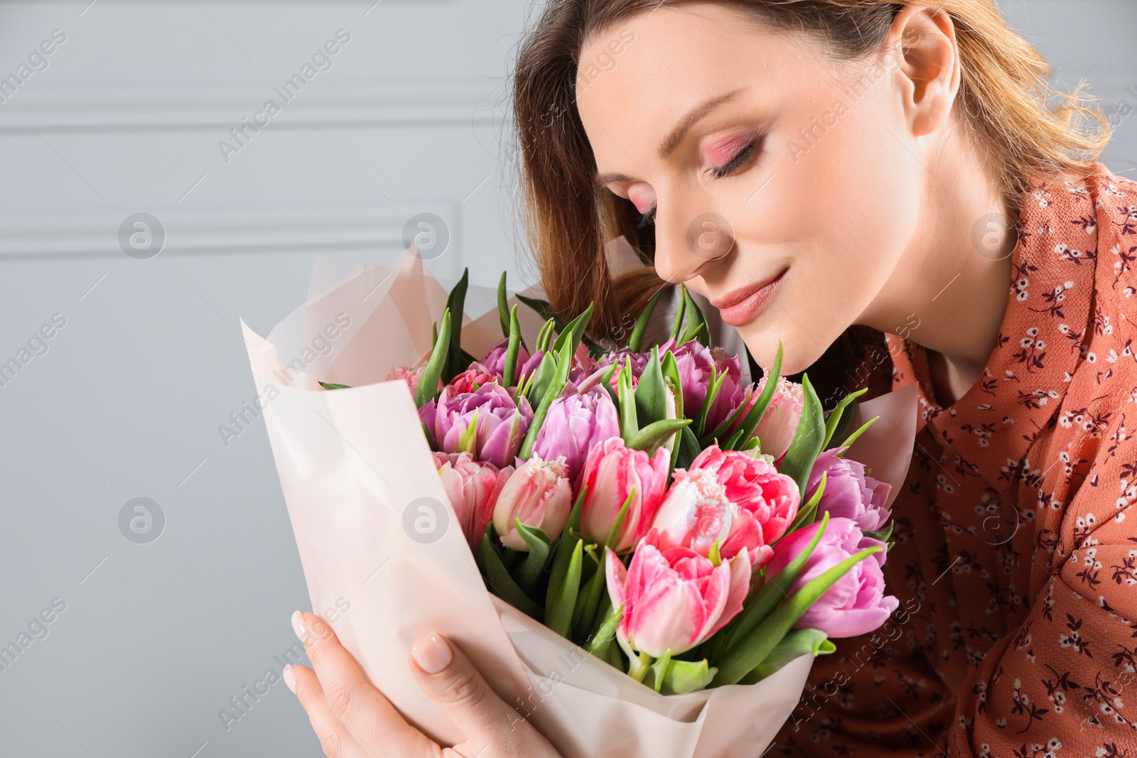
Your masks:
M957 402L919 328L874 348L920 391L899 608L815 661L782 755L1137 758L1137 183L1039 180L1020 213L998 342Z

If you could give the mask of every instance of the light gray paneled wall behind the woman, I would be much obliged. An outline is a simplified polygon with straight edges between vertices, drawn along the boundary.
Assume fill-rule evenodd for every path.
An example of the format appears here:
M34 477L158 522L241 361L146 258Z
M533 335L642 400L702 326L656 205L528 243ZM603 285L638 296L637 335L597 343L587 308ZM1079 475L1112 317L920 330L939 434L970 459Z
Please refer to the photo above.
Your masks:
M218 717L279 672L307 608L263 425L217 431L254 397L238 318L267 333L315 255L376 260L422 211L454 235L437 275L529 281L499 147L525 5L88 2L0 3L0 75L66 34L0 103L0 361L66 319L0 388L0 644L66 602L0 670L0 755L316 756L282 684ZM1137 108L1132 0L1006 7L1060 80ZM225 160L218 141L340 28L332 68ZM1123 111L1118 170L1137 159ZM139 213L166 234L149 260L119 248ZM147 544L119 528L140 497L165 515Z

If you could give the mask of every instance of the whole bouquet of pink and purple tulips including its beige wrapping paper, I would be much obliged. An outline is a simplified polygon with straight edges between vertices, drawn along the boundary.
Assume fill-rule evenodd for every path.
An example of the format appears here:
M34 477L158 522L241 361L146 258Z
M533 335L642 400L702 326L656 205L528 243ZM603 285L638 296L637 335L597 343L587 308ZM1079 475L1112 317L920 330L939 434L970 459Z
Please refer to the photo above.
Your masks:
M591 308L448 292L413 252L322 259L267 339L244 327L313 608L348 601L341 642L443 744L405 663L431 628L566 758L760 755L814 656L896 609L914 397L825 414L780 349L748 381L682 288L601 344Z

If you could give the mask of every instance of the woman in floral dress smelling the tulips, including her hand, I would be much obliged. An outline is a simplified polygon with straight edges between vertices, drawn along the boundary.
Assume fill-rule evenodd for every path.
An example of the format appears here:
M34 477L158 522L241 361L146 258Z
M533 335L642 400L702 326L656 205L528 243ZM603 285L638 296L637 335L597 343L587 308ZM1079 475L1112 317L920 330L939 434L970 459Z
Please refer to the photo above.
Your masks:
M543 284L603 331L684 282L762 366L780 338L833 392L919 384L901 609L815 663L780 750L1132 756L1137 185L990 0L930 6L553 0L514 102ZM621 234L649 265L613 283ZM329 755L439 752L309 653ZM413 658L458 753L553 755L445 640Z

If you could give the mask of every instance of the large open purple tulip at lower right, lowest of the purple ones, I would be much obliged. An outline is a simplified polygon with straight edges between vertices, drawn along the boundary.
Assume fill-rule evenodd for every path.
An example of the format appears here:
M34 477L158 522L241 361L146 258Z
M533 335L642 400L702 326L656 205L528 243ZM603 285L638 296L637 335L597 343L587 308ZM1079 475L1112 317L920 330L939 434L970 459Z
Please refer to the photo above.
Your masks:
M774 545L774 557L766 565L766 576L775 576L813 539L821 523L790 532ZM885 547L880 540L865 536L855 522L830 518L825 533L805 561L802 573L794 581L794 594L825 570L849 556L872 547ZM899 601L885 595L885 551L863 559L805 611L794 626L821 630L831 638L856 636L878 628L896 610Z

